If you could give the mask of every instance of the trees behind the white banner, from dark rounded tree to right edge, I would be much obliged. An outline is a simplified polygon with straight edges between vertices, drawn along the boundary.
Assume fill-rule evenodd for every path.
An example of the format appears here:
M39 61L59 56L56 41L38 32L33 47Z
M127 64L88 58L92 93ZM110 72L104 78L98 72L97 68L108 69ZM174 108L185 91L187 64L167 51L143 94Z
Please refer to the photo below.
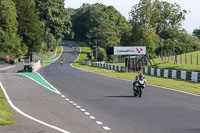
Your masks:
M182 28L189 12L176 3L140 0L132 7L129 20L113 6L98 3L69 10L74 38L96 43L98 60L114 59L106 55L108 46L146 46L152 56L200 50L200 30L195 29L190 35Z

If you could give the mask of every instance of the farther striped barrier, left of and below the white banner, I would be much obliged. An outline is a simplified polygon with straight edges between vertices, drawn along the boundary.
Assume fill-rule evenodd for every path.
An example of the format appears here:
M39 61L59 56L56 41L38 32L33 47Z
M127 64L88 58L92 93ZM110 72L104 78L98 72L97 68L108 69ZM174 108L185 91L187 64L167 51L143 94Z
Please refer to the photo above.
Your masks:
M117 66L117 65L110 65L110 64L106 64L104 62L92 62L91 65L92 65L92 67L98 67L98 68L103 68L103 69L115 70L115 71L119 71L119 72L125 72L125 67Z

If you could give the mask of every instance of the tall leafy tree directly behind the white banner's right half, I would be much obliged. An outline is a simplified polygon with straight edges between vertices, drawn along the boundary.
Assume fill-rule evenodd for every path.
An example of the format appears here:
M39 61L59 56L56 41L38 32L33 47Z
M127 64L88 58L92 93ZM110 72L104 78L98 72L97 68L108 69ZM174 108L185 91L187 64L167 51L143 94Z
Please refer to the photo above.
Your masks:
M151 0L140 0L139 4L136 4L130 12L132 25L132 45L143 45L147 47L147 52L153 54L156 45L159 40L159 36L156 34L154 24L159 18L159 14L152 10L154 8ZM157 17L157 18L155 18Z

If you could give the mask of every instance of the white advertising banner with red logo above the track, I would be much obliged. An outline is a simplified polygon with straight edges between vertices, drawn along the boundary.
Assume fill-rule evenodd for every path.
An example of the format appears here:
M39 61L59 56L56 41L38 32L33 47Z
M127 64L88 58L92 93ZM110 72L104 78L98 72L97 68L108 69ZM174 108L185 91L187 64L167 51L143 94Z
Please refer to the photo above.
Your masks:
M114 47L114 55L145 55L146 46Z

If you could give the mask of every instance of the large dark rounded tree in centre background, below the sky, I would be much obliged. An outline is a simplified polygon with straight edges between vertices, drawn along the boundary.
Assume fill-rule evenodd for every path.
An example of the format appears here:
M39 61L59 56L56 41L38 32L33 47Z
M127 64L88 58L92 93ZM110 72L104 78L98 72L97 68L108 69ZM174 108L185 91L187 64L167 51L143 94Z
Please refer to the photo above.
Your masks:
M83 4L72 15L75 39L86 40L89 31L98 27L101 21L112 24L119 38L121 31L127 26L126 19L113 6L105 6L99 3Z

